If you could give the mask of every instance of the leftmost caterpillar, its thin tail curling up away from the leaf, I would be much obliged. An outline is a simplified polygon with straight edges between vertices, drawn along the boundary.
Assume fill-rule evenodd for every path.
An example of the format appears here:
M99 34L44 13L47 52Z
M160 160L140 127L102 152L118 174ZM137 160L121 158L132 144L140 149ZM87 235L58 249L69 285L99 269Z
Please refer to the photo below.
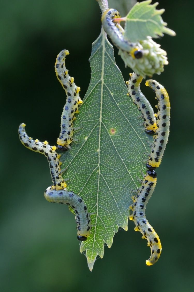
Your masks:
M60 169L61 162L59 160L60 154L56 153L56 146L50 146L47 141L40 142L38 139L33 140L27 135L25 126L24 123L19 126L18 133L20 141L26 148L44 154L47 157L53 182L52 188L56 188L56 190L64 189L67 187L67 184L62 178Z

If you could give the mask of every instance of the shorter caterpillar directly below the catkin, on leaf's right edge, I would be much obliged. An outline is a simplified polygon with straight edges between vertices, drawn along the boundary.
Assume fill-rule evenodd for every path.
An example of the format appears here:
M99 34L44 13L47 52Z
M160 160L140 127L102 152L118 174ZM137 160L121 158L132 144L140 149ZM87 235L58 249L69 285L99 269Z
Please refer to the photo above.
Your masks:
M142 113L146 132L148 134L154 134L157 128L154 110L145 95L143 95L140 90L140 83L143 77L136 73L130 73L129 76L129 81L126 82L128 85L128 94Z

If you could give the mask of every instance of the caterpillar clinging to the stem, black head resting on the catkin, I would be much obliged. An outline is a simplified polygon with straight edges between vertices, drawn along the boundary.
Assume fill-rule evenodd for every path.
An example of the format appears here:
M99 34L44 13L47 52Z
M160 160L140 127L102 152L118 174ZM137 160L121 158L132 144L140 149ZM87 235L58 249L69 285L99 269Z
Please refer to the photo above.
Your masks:
M143 51L141 51L135 43L131 43L127 39L124 39L124 29L118 22L113 22L115 18L120 18L120 13L116 9L108 9L104 12L101 20L105 32L110 36L111 40L118 49L126 51L134 59L142 58Z

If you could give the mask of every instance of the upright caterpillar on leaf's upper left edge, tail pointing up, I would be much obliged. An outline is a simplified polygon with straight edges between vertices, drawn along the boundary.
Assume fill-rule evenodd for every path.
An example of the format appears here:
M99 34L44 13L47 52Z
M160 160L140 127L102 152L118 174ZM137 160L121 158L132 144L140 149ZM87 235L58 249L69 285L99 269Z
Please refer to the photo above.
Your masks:
M57 139L58 149L62 151L70 148L74 132L73 121L76 119L74 115L79 112L78 107L82 103L79 96L80 87L75 85L74 78L70 77L68 70L65 67L65 57L67 55L69 55L68 50L60 51L55 62L57 79L65 89L67 95L66 103L61 115L60 135Z

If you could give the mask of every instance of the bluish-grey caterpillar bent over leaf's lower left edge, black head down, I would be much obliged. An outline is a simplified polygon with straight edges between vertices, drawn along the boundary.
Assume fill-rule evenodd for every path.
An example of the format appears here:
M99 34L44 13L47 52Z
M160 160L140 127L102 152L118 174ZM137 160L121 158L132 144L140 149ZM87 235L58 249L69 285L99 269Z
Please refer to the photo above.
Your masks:
M90 214L81 197L67 190L55 190L48 187L45 191L45 199L51 203L66 204L74 209L77 224L77 239L85 241L91 231Z

